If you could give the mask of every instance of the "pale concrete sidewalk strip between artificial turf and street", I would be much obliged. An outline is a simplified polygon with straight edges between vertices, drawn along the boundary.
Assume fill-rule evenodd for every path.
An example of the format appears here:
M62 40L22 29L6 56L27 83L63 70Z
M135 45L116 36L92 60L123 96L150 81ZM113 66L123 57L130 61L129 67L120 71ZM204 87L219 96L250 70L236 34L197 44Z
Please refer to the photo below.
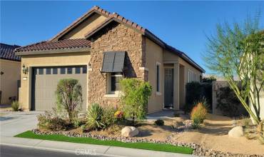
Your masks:
M186 155L182 153L167 153L161 151L148 151L134 148L121 148L115 146L100 146L82 143L69 143L60 141L46 141L38 139L29 138L15 138L15 137L3 137L1 136L1 145L8 146L19 146L24 148L37 148L41 150L49 151L60 151L68 153L76 153L76 155L84 156L96 155L96 156L126 156L126 157L187 157L191 155Z

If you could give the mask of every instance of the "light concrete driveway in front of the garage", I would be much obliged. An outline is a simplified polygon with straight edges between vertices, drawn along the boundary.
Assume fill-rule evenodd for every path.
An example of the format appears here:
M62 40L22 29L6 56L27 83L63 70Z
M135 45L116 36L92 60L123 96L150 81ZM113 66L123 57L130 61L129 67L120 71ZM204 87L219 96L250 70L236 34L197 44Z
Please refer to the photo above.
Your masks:
M0 116L1 136L15 136L36 128L39 111L12 112Z

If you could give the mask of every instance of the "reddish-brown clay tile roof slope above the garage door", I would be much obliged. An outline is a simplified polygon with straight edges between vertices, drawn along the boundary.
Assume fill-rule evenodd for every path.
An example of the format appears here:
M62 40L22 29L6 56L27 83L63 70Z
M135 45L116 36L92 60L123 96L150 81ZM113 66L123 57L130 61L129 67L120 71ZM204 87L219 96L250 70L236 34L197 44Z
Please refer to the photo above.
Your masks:
M16 52L21 51L43 51L54 49L74 49L74 48L87 48L90 47L90 41L86 39L65 39L60 41L41 41L36 44L23 46L16 49Z

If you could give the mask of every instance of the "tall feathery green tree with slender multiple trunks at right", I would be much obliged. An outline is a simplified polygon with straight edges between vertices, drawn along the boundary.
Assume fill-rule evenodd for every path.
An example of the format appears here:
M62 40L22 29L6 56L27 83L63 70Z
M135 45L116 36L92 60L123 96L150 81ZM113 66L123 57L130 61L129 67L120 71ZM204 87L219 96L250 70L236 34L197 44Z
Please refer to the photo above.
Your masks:
M216 34L208 37L204 60L209 69L225 77L246 111L260 124L264 34L258 21L248 18L243 24L218 24Z

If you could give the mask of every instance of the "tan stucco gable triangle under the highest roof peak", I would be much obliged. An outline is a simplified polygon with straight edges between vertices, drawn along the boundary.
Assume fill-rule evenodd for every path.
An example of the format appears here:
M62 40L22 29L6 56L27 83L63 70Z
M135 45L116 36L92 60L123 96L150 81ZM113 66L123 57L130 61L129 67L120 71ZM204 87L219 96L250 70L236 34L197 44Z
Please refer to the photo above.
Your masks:
M83 39L85 34L87 34L89 31L94 29L96 26L98 26L98 24L101 24L105 20L105 16L93 14L93 16L76 26L75 29L69 31L68 34L62 36L61 39Z

